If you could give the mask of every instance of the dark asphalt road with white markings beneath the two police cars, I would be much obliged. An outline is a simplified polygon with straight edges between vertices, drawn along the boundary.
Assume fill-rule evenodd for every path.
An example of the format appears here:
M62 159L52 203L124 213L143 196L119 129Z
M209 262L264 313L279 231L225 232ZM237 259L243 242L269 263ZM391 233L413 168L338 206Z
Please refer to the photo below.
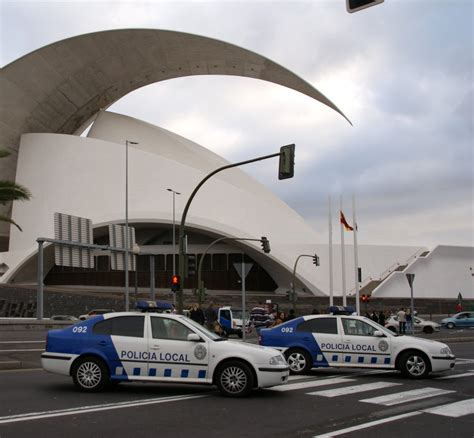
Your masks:
M149 383L84 394L68 377L2 371L0 437L472 438L474 343L451 347L460 359L455 369L426 380L313 370L245 399L224 398L213 387Z

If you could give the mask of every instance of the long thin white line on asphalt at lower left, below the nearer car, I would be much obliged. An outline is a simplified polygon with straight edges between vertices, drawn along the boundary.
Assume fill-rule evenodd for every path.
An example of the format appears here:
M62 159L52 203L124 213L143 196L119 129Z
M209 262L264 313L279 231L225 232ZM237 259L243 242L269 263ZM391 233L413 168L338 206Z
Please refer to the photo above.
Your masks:
M66 415L87 414L90 412L100 412L100 411L108 411L112 409L123 409L123 408L137 407L137 406L147 406L147 405L154 405L158 403L169 403L169 402L181 401L181 400L192 400L192 399L202 398L202 397L208 397L208 395L200 394L200 395L160 397L160 398L151 398L151 399L136 400L136 401L129 401L129 402L108 403L108 404L103 404L103 405L80 406L78 408L60 409L60 410L55 410L55 411L31 412L28 414L9 415L6 417L0 417L0 424L17 423L20 421L42 420L45 418L63 417Z

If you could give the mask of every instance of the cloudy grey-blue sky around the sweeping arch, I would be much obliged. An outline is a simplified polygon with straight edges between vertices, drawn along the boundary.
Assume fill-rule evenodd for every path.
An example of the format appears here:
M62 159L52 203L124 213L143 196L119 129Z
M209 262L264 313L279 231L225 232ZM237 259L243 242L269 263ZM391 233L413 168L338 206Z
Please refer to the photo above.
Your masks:
M193 33L257 52L312 84L353 126L296 91L199 76L143 87L109 110L174 131L231 162L295 143L295 177L277 161L242 168L328 239L340 198L359 244L474 246L474 2L385 0L5 1L0 64L109 29ZM347 242L347 237L346 237Z

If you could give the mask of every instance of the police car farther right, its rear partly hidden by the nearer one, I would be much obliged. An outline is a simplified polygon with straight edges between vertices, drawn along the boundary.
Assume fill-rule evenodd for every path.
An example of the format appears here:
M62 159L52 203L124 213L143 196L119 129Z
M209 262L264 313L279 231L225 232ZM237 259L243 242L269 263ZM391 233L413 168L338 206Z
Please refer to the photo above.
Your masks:
M454 367L446 344L397 336L372 320L353 315L308 315L262 329L260 345L282 351L292 374L313 367L392 368L418 379Z

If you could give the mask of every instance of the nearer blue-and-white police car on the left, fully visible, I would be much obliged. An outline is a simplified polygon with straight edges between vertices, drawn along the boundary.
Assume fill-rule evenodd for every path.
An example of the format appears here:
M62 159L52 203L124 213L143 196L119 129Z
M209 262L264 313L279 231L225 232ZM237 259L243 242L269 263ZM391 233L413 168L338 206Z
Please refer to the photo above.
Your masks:
M153 308L153 302L140 303ZM272 348L228 341L182 315L108 313L50 330L42 366L72 376L83 391L151 381L217 385L226 396L286 383L289 367Z

